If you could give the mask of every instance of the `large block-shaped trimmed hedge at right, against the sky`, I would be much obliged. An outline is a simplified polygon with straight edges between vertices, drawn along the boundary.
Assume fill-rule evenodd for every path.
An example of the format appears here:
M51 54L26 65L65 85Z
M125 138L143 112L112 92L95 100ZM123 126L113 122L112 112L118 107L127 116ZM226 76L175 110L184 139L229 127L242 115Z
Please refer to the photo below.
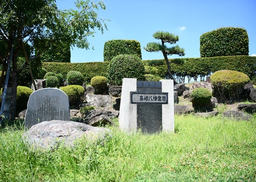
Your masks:
M223 27L200 36L201 57L236 56L249 54L246 29Z

